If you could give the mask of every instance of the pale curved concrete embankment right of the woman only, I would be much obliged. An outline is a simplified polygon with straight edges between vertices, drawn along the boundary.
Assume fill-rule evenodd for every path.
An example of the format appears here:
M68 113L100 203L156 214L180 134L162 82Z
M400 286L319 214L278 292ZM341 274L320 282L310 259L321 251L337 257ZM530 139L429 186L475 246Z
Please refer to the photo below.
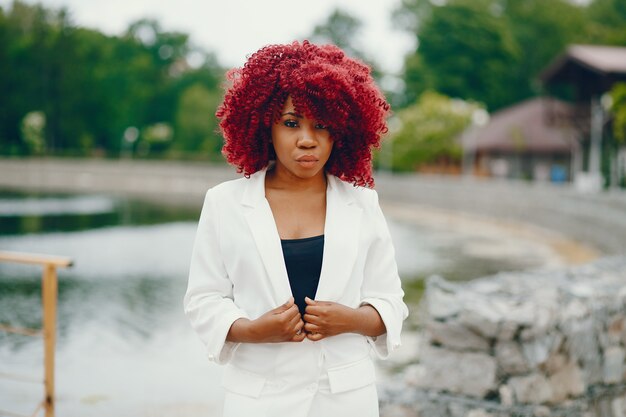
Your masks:
M529 223L626 254L626 192L584 194L570 185L434 176L380 176L382 200Z

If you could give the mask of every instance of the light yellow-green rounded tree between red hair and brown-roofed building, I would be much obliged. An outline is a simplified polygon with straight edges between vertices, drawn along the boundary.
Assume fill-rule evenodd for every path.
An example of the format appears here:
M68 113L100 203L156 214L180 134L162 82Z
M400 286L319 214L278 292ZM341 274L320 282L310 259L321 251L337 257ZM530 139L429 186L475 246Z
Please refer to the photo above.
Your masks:
M390 132L381 153L387 152L387 158L391 153L389 159L396 171L414 171L427 164L459 163L462 149L458 138L477 109L480 106L474 103L425 92L413 105L398 112L398 127Z

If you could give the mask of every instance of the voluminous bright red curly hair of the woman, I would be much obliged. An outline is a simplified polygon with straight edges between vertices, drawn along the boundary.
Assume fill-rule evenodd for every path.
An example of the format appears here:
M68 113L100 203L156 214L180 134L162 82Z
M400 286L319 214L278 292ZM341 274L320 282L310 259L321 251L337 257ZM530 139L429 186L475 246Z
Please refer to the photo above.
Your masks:
M333 45L308 41L269 45L227 73L230 86L216 116L222 153L249 176L276 158L271 126L287 96L296 110L328 126L334 141L326 171L373 187L372 148L387 132L389 104L370 68Z

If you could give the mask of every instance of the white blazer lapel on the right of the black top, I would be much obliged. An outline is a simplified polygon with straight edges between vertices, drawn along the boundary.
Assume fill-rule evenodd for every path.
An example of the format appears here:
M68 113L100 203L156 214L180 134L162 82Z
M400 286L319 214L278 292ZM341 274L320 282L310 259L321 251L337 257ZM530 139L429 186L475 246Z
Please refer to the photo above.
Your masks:
M336 301L343 295L356 261L362 209L345 192L340 179L327 178L324 258L315 299Z

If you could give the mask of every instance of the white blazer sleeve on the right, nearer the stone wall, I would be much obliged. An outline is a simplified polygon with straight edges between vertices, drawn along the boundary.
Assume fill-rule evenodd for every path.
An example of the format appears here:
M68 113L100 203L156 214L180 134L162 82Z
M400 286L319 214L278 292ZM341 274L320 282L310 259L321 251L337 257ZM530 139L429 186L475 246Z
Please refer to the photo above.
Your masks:
M368 211L376 236L365 261L361 305L369 304L374 307L385 323L386 333L378 337L368 337L368 341L380 359L387 359L401 345L402 322L409 313L403 301L404 291L389 228L380 209L376 191L372 192L372 196Z

